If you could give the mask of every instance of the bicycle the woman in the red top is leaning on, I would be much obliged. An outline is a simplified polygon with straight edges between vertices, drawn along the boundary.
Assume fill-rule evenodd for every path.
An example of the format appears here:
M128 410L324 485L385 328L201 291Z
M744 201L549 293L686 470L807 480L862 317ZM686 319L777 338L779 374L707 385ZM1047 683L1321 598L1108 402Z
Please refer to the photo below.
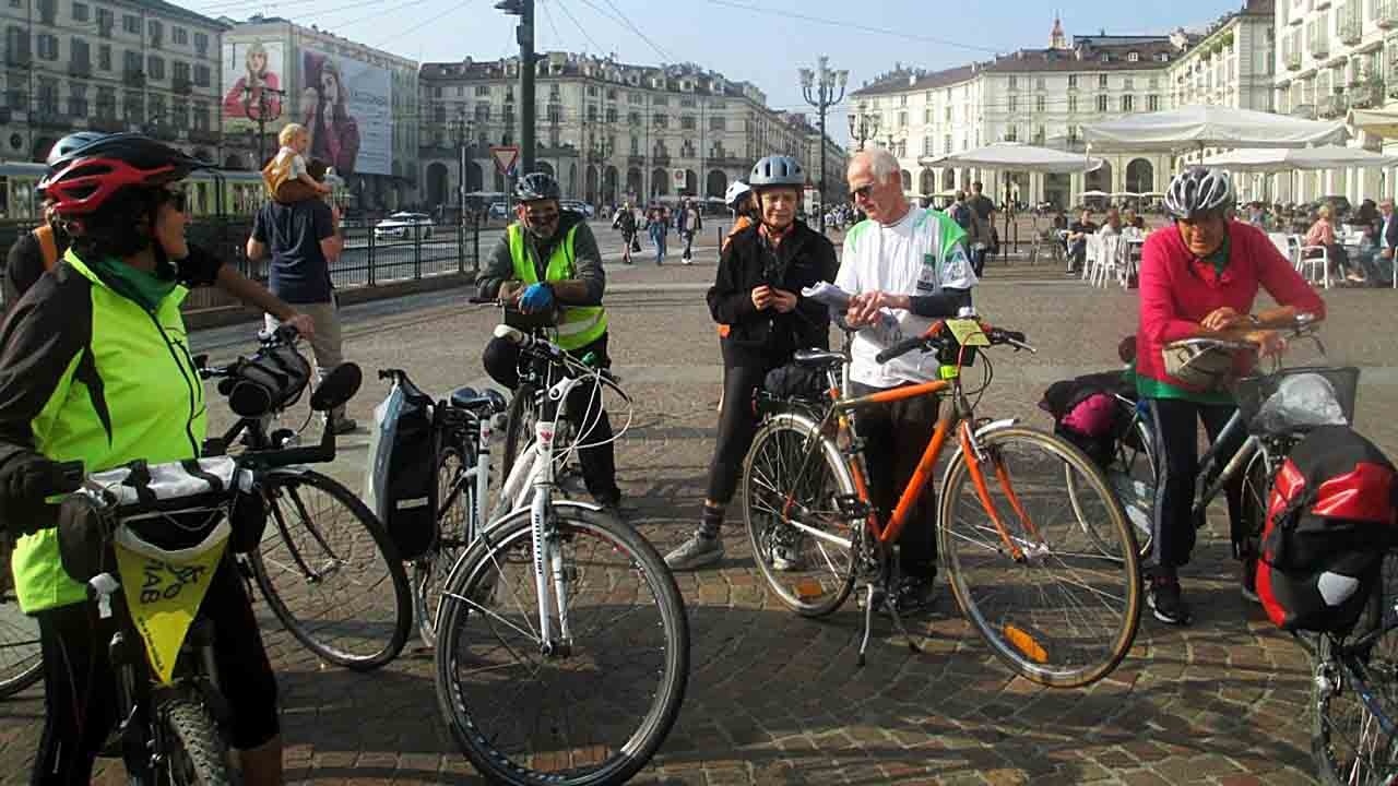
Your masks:
M1324 344L1316 334L1318 323L1311 315L1297 315L1296 320L1285 327L1288 340L1306 340L1325 352ZM1220 338L1186 338L1172 343L1170 347L1194 347L1198 350L1219 350L1227 352L1255 352L1257 347L1246 341ZM1209 449L1199 457L1199 470L1195 476L1192 516L1197 527L1205 523L1205 512L1213 499L1218 498L1233 478L1241 477L1243 483L1243 520L1239 522L1241 531L1230 533L1233 541L1234 559L1244 559L1255 555L1257 538L1262 531L1267 516L1268 495L1272 488L1272 478L1281 469L1286 455L1304 435L1304 422L1282 420L1275 424L1258 421L1264 404L1290 378L1314 375L1324 378L1338 394L1348 422L1353 422L1355 399L1359 385L1359 369L1329 368L1329 366L1297 366L1283 368L1281 358L1274 358L1269 372L1254 373L1234 383L1234 393L1239 408L1229 418ZM1124 396L1116 396L1123 413L1130 413L1125 425L1125 436L1118 441L1113 462L1103 470L1107 485L1121 502L1127 517L1135 526L1141 538L1141 552L1148 554L1152 537L1152 522L1155 520L1155 478L1158 467L1156 439L1153 427L1148 417L1145 401L1137 401ZM1274 418L1275 420L1275 418ZM1264 428L1265 427L1265 428ZM1222 455L1223 448L1233 443L1239 434L1247 431L1243 445L1230 457ZM1072 478L1068 478L1068 496L1076 506L1076 488ZM1086 517L1079 516L1085 531L1093 536L1093 530Z

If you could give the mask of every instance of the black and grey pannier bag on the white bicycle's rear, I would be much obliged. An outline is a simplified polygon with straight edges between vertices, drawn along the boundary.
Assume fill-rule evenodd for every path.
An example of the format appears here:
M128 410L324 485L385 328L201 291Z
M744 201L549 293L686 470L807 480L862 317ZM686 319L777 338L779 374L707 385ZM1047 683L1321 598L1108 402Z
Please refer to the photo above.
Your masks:
M403 559L415 559L436 540L438 429L432 397L401 378L373 410L365 503L393 538Z

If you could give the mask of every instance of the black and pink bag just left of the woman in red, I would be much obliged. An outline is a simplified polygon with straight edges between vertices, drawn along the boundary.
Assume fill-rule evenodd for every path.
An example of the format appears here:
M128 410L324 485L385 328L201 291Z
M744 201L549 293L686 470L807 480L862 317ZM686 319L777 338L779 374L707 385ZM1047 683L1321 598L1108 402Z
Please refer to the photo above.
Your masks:
M1053 415L1054 434L1106 467L1130 425L1117 396L1135 400L1135 387L1120 371L1104 371L1054 382L1044 390L1039 408Z

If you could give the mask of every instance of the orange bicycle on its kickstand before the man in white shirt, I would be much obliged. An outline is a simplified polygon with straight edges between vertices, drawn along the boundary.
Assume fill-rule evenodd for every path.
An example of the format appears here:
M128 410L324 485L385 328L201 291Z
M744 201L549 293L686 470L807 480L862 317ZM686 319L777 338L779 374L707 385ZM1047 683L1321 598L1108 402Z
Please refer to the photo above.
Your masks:
M937 544L962 613L995 656L1028 680L1079 687L1109 674L1131 648L1141 615L1137 545L1120 506L1096 467L1072 445L1015 420L976 417L972 397L979 401L994 378L986 352L977 350L1032 350L1023 334L974 316L939 320L877 359L884 364L911 351L935 351L941 379L856 396L850 380L854 331L843 322L840 327L842 351L795 355L798 365L825 372L830 400L768 411L744 462L744 516L768 586L793 611L823 617L861 582L863 666L877 599L892 597L898 582L893 544L905 526L916 524L909 522L910 510L953 439L955 453L942 473ZM973 358L983 361L986 379L967 392L962 371ZM941 410L917 471L885 520L870 502L857 411L944 393L951 407ZM1051 509L1036 508L1030 515L1032 506L1067 506L1062 467L1081 476L1083 490L1096 491L1102 526L1114 538L1110 554L1075 540L1081 533L1075 517L1064 526L1053 520ZM1055 578L1057 569L1065 578ZM1054 585L1040 586L1039 573ZM917 650L896 606L885 607L896 631Z

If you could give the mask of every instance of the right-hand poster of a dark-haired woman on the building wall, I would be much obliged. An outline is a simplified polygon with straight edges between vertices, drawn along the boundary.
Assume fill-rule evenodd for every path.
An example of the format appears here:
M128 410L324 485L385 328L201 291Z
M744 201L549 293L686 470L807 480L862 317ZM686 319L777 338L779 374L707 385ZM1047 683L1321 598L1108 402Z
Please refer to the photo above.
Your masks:
M302 49L296 120L310 130L310 158L340 175L393 173L393 102L387 69Z

